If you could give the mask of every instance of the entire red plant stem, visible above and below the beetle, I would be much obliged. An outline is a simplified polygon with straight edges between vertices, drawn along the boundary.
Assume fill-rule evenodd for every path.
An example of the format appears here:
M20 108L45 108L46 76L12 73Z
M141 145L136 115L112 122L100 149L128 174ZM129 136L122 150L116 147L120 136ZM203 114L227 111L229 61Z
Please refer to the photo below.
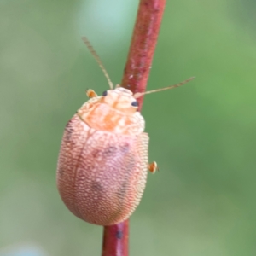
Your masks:
M146 90L166 0L141 0L121 86L133 93ZM138 98L139 111L143 96ZM104 227L102 256L128 256L129 220Z

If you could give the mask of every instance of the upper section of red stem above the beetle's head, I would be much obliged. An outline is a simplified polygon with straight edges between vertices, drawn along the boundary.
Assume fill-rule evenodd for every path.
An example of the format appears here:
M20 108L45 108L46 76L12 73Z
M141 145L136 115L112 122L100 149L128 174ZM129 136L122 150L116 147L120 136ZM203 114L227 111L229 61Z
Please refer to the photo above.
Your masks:
M166 0L141 0L121 86L133 93L146 90ZM139 110L143 105L140 97Z

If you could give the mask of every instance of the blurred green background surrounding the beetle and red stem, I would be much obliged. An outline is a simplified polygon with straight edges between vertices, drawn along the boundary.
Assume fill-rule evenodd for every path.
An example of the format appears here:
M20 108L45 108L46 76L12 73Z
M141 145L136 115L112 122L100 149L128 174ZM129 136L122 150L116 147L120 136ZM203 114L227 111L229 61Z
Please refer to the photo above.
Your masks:
M0 252L100 255L102 227L61 201L55 169L68 119L125 66L138 1L0 1ZM168 1L145 96L149 159L131 255L256 255L256 2ZM5 254L4 254L5 255Z

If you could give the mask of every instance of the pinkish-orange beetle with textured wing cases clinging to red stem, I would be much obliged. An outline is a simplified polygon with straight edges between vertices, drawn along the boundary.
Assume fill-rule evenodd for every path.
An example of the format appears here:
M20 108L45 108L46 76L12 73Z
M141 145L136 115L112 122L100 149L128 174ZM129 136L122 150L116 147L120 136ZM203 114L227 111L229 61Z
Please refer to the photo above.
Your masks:
M108 79L110 90L97 96L87 90L88 102L67 123L57 166L57 187L62 201L74 215L90 224L111 225L124 221L138 206L146 185L148 134L137 111L137 98L113 83L99 56L86 38L84 43ZM189 82L168 86L172 89Z

